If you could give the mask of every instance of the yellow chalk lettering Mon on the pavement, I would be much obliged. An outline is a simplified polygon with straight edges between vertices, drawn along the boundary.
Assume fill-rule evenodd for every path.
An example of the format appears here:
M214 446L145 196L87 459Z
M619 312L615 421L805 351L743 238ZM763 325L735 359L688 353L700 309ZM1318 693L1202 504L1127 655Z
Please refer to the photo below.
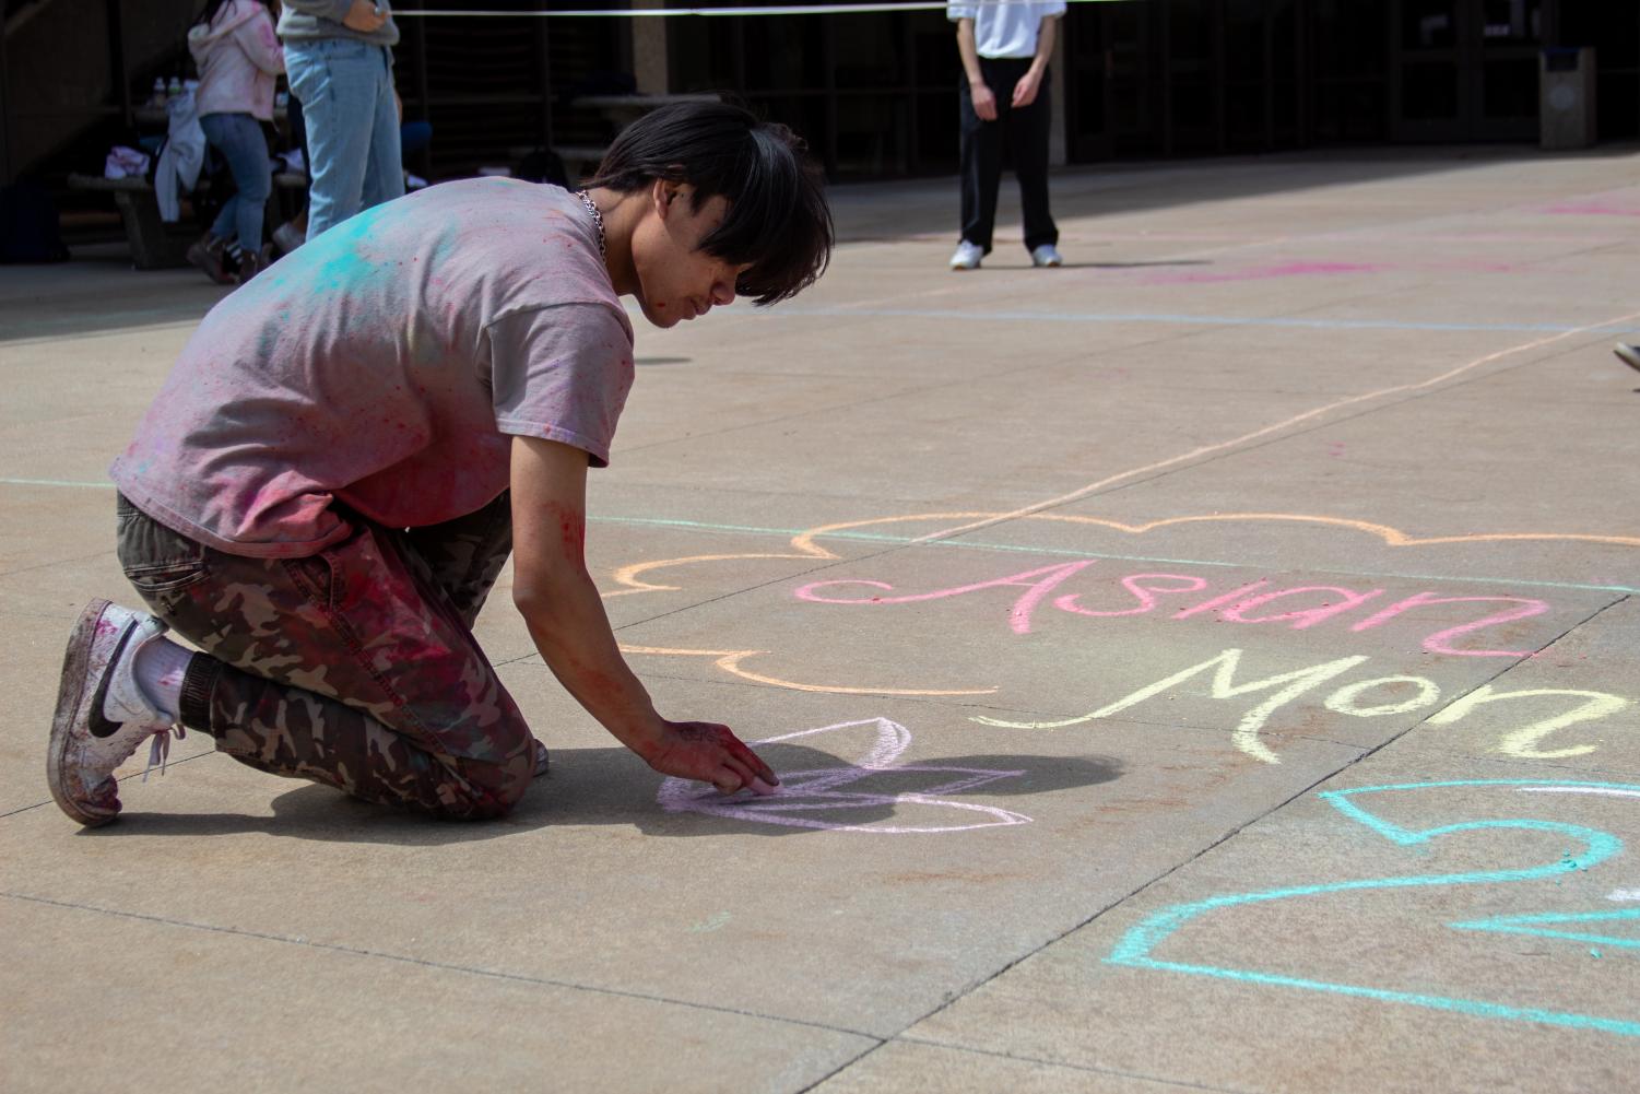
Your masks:
M1146 699L1155 699L1163 692L1189 684L1196 677L1207 677L1207 694L1212 699L1240 699L1241 695L1260 695L1261 692L1268 692L1258 705L1241 715L1241 720L1232 732L1232 741L1248 756L1274 764L1281 763L1281 758L1260 740L1260 730L1269 723L1269 718L1289 702L1307 692L1317 691L1323 684L1337 681L1345 672L1366 664L1368 661L1371 661L1371 658L1358 654L1289 672L1276 672L1274 676L1266 676L1263 679L1237 681L1237 674L1241 668L1241 651L1225 650L1215 658L1209 658L1200 664L1192 664L1191 668L1174 672L1173 676L1156 681L1155 684L1146 684L1145 687L1140 687L1112 704L1076 718L1063 718L1058 722L1004 722L1000 718L976 717L973 720L982 725L997 725L1012 730L1058 730L1068 725L1094 722L1096 718L1109 718L1127 710L1128 707L1137 707ZM1524 687L1509 691L1494 684L1483 684L1474 691L1460 695L1445 709L1437 710L1427 718L1427 722L1430 725L1453 725L1466 718L1469 712L1479 707L1533 699L1555 700L1563 704L1563 707L1548 717L1535 718L1520 728L1506 732L1497 743L1497 751L1509 756L1519 756L1522 759L1566 759L1569 756L1586 756L1596 751L1597 745L1563 745L1560 748L1545 748L1545 741L1550 735L1560 730L1581 722L1594 722L1633 705L1632 699L1625 699L1622 695L1583 691L1578 687ZM1322 699L1322 705L1327 710L1351 718L1381 718L1387 715L1412 713L1414 710L1433 709L1440 702L1440 686L1425 676L1374 676L1343 684L1335 691L1330 691L1325 699ZM1533 704L1533 707L1542 707L1542 702ZM1497 709L1494 707L1494 712Z

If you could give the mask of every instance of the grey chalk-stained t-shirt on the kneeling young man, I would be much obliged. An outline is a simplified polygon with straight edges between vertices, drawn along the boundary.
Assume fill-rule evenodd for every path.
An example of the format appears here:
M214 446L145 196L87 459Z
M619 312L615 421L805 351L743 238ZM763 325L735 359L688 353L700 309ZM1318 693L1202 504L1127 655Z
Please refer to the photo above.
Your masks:
M154 520L253 558L313 554L348 508L471 513L512 436L608 463L633 333L574 194L430 187L343 221L218 303L110 474Z

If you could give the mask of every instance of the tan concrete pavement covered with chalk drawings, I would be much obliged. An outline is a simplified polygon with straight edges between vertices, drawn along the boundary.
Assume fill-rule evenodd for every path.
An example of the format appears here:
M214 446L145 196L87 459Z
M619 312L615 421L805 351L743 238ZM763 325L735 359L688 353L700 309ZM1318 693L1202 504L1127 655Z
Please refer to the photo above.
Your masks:
M1073 171L1059 271L1005 180L974 274L946 180L836 190L813 290L640 330L590 497L661 710L786 789L649 773L503 579L554 768L469 827L198 736L51 805L62 640L136 602L103 469L220 290L0 271L0 1083L1630 1086L1637 169Z

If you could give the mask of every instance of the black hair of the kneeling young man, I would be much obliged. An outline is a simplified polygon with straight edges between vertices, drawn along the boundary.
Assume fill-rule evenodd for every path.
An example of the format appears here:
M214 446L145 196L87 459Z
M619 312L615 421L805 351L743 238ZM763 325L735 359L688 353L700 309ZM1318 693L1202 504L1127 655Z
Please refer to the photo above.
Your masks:
M751 264L735 292L766 305L812 285L831 261L831 210L818 164L784 125L722 102L672 103L626 126L587 187L622 194L664 179L695 189L694 208L713 197L728 215L700 249Z

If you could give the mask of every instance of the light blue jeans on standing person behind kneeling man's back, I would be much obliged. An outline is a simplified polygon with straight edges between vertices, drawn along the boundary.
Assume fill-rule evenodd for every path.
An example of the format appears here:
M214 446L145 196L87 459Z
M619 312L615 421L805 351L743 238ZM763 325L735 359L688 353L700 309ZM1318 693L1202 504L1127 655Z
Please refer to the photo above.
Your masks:
M308 239L405 192L394 54L353 38L285 43L308 131Z

